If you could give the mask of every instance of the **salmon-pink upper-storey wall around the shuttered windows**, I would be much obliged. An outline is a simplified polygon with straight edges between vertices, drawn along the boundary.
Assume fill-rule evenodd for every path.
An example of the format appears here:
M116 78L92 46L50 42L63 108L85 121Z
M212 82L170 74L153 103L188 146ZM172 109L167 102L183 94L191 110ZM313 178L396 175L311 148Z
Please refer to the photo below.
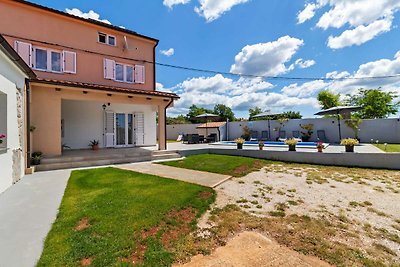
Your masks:
M35 71L38 77L155 90L153 64L143 63L143 61L154 61L153 48L156 41L9 0L0 0L0 17L1 32L12 46L14 46L15 40L20 40L36 46L77 53L76 74ZM116 36L117 45L109 46L98 43L98 32ZM123 49L124 36L127 37L129 50ZM56 45L43 44L36 40ZM65 48L65 46L75 49ZM83 52L82 50L90 52ZM145 84L120 83L104 79L104 58L114 59L120 63L144 65L146 69Z

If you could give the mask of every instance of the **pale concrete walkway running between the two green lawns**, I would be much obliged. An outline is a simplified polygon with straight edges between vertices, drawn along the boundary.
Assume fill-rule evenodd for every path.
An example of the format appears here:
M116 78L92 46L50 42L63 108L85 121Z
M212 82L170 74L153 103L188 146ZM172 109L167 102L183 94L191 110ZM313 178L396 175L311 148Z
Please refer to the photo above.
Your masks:
M124 170L171 178L188 183L199 184L207 187L216 187L231 178L231 176L228 175L181 169L150 162L117 165L115 167Z

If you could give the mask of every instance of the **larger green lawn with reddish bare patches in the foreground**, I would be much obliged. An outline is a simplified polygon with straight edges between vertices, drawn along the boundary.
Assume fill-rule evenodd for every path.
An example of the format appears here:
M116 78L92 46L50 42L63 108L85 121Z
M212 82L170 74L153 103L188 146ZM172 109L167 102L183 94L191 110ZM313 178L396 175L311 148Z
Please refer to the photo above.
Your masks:
M157 176L74 171L38 266L168 266L214 200L210 188Z

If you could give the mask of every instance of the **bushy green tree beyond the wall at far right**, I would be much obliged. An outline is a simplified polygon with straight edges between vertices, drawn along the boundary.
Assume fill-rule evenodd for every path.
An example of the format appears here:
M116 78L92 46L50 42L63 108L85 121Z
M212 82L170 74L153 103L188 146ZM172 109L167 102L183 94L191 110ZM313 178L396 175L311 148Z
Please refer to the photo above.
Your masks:
M383 92L378 89L359 89L357 94L348 95L348 104L361 106L363 109L355 115L361 119L387 118L397 113L400 102L394 92Z

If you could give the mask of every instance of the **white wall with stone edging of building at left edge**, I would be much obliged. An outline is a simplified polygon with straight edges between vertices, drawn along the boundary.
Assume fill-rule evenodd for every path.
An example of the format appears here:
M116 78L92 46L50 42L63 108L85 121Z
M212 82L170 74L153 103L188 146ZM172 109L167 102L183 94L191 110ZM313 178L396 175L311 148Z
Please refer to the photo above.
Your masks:
M25 171L23 92L25 75L0 51L0 193L20 180Z

